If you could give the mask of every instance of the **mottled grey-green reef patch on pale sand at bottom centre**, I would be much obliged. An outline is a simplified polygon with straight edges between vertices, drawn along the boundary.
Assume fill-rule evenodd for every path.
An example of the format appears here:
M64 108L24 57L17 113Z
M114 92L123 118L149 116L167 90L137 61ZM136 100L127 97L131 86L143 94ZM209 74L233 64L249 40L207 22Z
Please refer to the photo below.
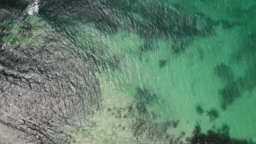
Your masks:
M184 132L178 137L174 137L170 134L168 129L175 129L178 127L179 120L166 120L164 122L153 122L156 115L153 112L147 110L146 105L142 103L135 103L128 107L114 107L107 109L110 115L115 118L133 118L131 127L123 127L121 124L118 126L122 130L129 130L133 136L136 137L137 143L143 142L144 139L158 143L159 141L164 143L182 143L181 139L185 136ZM136 115L135 113L138 113Z

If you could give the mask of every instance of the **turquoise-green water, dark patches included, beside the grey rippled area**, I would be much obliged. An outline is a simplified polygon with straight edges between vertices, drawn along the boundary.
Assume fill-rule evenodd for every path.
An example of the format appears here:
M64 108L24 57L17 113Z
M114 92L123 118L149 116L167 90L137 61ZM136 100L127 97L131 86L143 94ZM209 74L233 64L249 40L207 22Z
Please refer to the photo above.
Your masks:
M41 2L27 18L32 37L18 33L19 20L2 37L40 51L50 28L65 39L63 45L87 53L101 106L87 117L93 126L56 128L71 143L256 142L256 1L80 4L58 14L61 4L53 5L55 13ZM214 131L215 141L207 131Z

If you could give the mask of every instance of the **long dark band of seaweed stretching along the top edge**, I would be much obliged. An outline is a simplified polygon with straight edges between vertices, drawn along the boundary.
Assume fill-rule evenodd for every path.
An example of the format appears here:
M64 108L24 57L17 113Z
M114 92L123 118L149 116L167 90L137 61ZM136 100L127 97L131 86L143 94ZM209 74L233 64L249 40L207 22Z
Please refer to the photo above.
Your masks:
M62 26L73 25L75 21L83 21L94 22L98 29L107 32L115 32L118 28L129 31L136 29L138 34L149 39L173 36L174 39L177 38L177 41L179 41L187 36L202 34L197 29L197 21L206 19L206 17L201 16L199 18L197 15L189 15L175 7L165 7L162 2L153 2L147 5L141 2L135 3L136 1L53 1L43 3L39 14ZM52 9L49 9L50 7ZM65 11L62 8L66 8ZM131 17L131 12L148 19L138 21ZM122 23L123 19L126 19L127 22ZM206 23L211 23L211 21L206 20ZM203 29L203 33L212 33L212 31L214 31L214 28ZM183 50L183 47L181 48Z

